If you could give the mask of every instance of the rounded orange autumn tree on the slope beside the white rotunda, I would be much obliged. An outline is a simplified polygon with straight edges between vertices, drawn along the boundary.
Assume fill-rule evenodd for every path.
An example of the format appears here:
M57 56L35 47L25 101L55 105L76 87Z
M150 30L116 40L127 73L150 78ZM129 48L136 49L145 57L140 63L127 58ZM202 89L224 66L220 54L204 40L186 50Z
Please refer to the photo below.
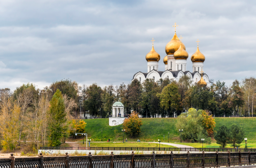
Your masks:
M140 127L142 126L142 121L139 119L138 114L133 112L130 114L128 118L126 118L123 122L123 129L126 134L134 135L136 133L140 133Z

